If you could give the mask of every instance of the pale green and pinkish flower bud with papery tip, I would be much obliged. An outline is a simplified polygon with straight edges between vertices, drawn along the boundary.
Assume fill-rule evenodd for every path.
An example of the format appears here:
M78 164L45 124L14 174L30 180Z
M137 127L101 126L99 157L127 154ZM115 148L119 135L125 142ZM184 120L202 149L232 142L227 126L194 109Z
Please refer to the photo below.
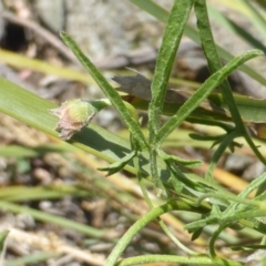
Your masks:
M75 99L61 104L58 109L50 112L59 117L55 131L62 140L70 140L73 134L86 126L93 116L98 113L98 109L91 102Z

